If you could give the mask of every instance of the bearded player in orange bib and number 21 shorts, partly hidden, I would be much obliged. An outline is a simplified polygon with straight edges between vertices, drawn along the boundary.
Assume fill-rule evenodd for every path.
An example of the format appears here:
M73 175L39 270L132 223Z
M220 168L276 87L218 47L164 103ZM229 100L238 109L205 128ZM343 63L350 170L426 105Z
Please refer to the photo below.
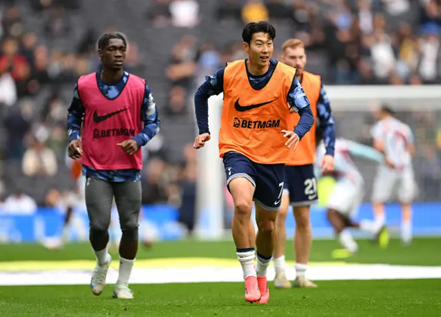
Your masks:
M317 181L314 176L314 162L316 161L316 127L320 127L325 141L326 154L320 162L322 173L327 174L334 170L334 119L325 89L320 76L305 72L306 54L305 46L298 39L289 39L282 46L280 61L295 67L296 77L302 84L310 103L311 111L316 119L316 124L298 144L296 152L287 152L288 162L285 165L284 192L282 204L277 218L278 238L274 249L274 267L276 287L289 288L291 283L285 274L285 221L289 204L293 206L296 218L296 233L294 236L294 249L296 254L296 279L297 287L316 287L305 277L309 252L311 249L311 223L309 220L310 206L318 202ZM294 118L294 126L300 120ZM289 127L292 129L292 127Z

